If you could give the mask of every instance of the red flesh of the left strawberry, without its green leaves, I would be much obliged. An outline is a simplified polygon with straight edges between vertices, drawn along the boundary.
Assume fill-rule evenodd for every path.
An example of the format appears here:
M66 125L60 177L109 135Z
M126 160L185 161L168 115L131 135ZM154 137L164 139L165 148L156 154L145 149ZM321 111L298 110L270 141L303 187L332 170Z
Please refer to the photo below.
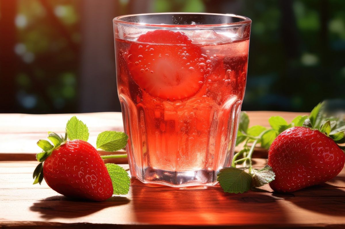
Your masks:
M103 160L91 144L82 140L53 149L43 163L43 176L49 187L68 197L103 201L113 194Z

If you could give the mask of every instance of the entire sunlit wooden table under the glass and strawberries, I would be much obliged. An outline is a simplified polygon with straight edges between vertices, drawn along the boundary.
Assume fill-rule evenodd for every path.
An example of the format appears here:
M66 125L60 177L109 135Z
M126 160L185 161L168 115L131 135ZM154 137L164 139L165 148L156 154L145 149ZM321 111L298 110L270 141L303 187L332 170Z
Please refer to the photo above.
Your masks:
M250 126L267 126L270 116L291 121L299 113L248 114ZM229 194L218 185L177 189L132 179L127 195L95 203L68 199L45 182L32 185L36 141L48 130L62 133L71 116L0 114L0 228L345 228L344 170L291 194L273 193L268 185L266 192ZM120 113L77 117L88 125L92 144L101 131L122 130ZM255 159L255 166L265 161Z

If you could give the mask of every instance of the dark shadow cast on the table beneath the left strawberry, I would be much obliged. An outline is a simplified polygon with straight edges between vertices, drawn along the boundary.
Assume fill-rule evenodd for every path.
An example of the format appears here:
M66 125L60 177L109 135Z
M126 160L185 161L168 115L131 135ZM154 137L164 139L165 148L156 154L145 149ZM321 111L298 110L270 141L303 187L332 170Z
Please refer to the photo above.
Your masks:
M65 196L52 196L39 200L31 207L31 211L38 211L42 218L77 218L87 216L104 208L129 203L127 197L113 196L103 202L75 200Z

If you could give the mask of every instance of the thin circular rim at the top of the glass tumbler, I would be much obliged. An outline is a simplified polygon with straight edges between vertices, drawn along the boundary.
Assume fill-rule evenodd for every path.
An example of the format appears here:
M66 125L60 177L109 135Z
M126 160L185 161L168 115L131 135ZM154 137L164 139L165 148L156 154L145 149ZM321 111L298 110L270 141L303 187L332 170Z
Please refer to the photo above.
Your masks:
M232 18L238 18L242 19L243 21L239 22L229 22L229 23L220 23L220 24L195 24L195 25L176 25L176 24L149 24L149 23L142 23L142 22L128 22L123 21L121 19L128 18L128 17L136 17L136 16L145 16L145 15L159 15L159 14L196 14L196 15L218 15L218 16L227 16ZM237 14L223 14L223 13L188 13L188 12L166 12L166 13L139 13L139 14L127 14L127 15L121 15L118 17L115 17L113 20L114 24L127 24L132 26L145 26L145 27L153 27L153 28L188 28L190 29L205 29L205 28L226 28L226 27L235 27L239 25L248 25L252 23L252 20L250 18L237 15Z

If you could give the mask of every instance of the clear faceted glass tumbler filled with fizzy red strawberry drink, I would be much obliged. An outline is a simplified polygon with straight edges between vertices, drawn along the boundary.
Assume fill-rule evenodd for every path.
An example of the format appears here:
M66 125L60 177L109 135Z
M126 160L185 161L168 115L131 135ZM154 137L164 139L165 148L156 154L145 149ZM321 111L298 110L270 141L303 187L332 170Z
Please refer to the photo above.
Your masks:
M154 13L113 22L131 175L173 187L215 185L234 153L251 20Z

